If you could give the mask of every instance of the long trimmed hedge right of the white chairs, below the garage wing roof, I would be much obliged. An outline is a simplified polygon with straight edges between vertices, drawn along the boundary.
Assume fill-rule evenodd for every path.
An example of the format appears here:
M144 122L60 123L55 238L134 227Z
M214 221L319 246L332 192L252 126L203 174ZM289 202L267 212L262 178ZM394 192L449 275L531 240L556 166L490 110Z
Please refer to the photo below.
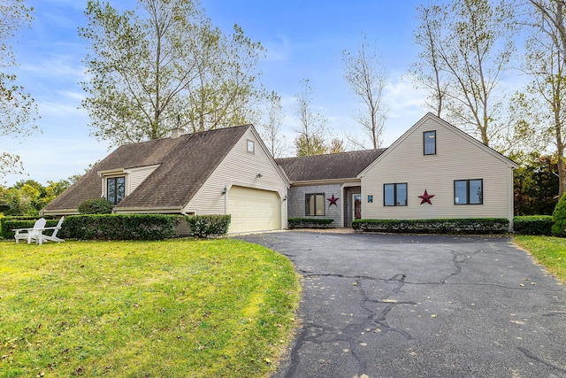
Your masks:
M62 238L81 240L164 240L179 236L182 215L90 214L65 218Z

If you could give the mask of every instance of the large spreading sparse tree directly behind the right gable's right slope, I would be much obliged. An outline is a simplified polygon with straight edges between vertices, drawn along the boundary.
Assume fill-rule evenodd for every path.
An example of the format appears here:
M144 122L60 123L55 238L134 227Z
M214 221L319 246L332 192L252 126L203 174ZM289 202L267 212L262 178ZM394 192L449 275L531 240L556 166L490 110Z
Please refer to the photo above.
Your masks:
M418 13L417 82L441 101L437 113L486 145L508 126L498 87L515 50L512 11L505 0L455 0Z

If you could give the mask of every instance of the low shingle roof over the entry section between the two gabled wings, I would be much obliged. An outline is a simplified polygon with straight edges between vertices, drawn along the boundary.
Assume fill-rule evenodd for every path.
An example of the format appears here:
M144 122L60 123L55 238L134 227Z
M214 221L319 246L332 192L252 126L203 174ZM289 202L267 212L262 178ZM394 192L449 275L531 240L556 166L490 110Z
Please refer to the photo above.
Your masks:
M386 149L359 150L327 155L277 158L290 181L339 180L356 178Z

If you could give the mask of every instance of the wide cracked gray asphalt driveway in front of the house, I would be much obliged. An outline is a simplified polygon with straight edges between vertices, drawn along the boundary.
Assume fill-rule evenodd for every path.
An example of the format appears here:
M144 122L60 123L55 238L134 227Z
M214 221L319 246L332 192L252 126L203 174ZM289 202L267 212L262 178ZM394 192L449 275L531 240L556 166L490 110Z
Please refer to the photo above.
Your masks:
M566 377L566 289L506 237L241 236L302 275L275 378Z

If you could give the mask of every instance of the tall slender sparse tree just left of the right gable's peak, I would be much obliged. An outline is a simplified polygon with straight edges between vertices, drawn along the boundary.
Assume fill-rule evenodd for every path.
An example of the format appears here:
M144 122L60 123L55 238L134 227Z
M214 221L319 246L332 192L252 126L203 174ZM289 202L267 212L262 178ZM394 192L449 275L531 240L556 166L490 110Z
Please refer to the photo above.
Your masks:
M387 106L383 98L387 73L381 65L375 49L369 46L367 36L363 35L355 53L342 52L344 79L349 88L363 104L363 111L356 116L356 121L363 127L363 132L371 139L374 149L381 147L385 129ZM356 143L354 138L349 138ZM362 144L363 143L356 143Z

